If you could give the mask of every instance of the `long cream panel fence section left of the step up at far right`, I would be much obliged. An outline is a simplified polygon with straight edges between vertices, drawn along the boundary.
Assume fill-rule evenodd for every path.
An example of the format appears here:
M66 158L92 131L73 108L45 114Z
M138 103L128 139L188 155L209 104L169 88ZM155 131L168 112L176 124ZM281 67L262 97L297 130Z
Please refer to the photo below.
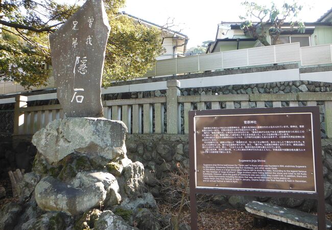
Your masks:
M254 65L298 62L300 43L271 45L220 53L203 54L183 58L156 61L152 70L144 77L223 70Z

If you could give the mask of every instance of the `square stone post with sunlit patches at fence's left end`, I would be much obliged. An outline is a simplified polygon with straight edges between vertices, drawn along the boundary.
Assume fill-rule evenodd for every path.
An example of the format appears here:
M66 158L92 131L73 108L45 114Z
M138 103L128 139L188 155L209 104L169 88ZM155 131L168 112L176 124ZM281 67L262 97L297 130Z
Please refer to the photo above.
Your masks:
M23 133L24 113L20 111L20 108L27 107L28 98L25 96L15 97L14 108L14 135Z

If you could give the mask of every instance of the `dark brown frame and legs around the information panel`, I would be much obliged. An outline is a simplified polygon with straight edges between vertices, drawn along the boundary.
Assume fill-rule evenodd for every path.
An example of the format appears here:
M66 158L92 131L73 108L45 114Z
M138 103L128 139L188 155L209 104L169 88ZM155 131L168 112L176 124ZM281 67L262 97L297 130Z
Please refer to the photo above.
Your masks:
M306 191L282 191L282 190L250 190L236 188L197 188L196 187L196 130L194 118L196 116L216 115L241 115L241 114L269 114L269 113L311 113L313 127L314 166L316 192ZM192 110L189 111L189 182L191 203L191 228L197 229L197 200L196 194L223 194L244 196L268 196L268 197L294 197L311 198L318 201L317 219L318 229L326 229L325 224L325 201L323 186L323 164L321 157L321 136L318 106L282 107L282 108L242 108L242 109L217 109L217 110Z

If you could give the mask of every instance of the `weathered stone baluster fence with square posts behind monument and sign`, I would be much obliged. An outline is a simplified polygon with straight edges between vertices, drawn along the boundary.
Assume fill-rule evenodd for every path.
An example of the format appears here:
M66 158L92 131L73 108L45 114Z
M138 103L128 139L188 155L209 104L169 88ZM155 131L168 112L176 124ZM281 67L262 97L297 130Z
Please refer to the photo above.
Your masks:
M180 82L167 82L167 96L103 101L104 117L122 120L129 133L188 133L188 111L254 107L319 106L321 129L332 137L332 93L243 94L180 96ZM27 106L27 97L17 96L14 134L34 134L49 122L64 118L61 105ZM182 116L181 116L182 114ZM167 119L164 119L167 117ZM165 126L165 127L164 127Z

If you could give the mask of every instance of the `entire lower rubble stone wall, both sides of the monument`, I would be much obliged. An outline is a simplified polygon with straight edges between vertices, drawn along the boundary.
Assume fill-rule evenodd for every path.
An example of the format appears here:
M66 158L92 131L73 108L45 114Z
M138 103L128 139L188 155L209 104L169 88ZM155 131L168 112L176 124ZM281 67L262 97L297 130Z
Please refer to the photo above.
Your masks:
M0 169L1 177L7 177L9 170L24 168L31 171L36 148L29 141L31 136L12 143L11 136L1 136ZM157 180L162 179L181 163L189 167L188 136L181 134L127 134L127 155L130 159L143 163L145 167L145 182L151 193L160 196ZM324 190L326 211L332 212L332 140L322 140L322 158L324 174ZM297 208L308 212L315 210L315 201L310 199L268 198L244 196L211 196L211 201L217 205L232 206L243 209L251 200L266 201L273 204Z

